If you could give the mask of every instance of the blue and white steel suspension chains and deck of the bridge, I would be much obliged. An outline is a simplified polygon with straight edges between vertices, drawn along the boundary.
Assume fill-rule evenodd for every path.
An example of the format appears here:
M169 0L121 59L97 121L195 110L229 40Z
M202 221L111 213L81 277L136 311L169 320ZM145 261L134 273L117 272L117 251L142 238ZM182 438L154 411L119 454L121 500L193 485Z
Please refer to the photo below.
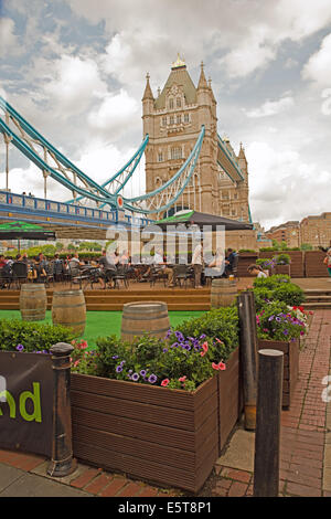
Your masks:
M0 133L6 146L6 189L0 191L1 220L20 216L35 222L52 222L53 226L107 227L109 224L146 225L164 214L193 182L199 160L204 126L195 145L179 170L158 189L135 197L125 197L124 190L139 165L148 146L146 135L134 156L107 181L96 182L45 139L26 119L0 96ZM9 146L14 146L41 171L44 179L44 198L36 199L9 190ZM244 181L242 171L228 152L225 142L217 138L217 161L233 182ZM47 199L47 178L68 191L65 202ZM250 222L252 223L252 222Z

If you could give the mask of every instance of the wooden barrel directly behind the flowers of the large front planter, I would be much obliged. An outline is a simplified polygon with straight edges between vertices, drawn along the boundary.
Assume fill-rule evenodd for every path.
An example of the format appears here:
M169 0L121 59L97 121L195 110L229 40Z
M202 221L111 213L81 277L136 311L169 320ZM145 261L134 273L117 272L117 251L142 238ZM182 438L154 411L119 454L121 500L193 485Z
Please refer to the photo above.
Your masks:
M162 301L126 303L122 307L120 335L132 342L145 332L164 339L170 328L168 305Z

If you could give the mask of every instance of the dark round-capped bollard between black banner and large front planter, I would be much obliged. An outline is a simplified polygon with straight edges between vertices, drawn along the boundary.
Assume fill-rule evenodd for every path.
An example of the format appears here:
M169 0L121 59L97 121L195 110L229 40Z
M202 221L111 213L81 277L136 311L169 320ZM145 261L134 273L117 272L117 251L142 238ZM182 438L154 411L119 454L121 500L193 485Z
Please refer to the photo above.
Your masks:
M68 476L76 468L72 446L72 410L71 410L71 353L74 348L66 342L52 346L51 353L54 370L53 398L53 439L50 476Z

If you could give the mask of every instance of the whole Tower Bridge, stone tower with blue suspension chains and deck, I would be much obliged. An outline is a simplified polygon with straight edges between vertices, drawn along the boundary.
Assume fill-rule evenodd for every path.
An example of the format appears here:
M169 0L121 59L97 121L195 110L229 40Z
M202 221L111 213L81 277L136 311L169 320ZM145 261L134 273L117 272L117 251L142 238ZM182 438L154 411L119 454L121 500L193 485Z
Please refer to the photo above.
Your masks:
M60 152L39 130L0 97L0 133L6 147L6 189L0 191L0 220L33 220L61 235L94 239L109 224L146 225L193 209L252 223L248 170L241 145L217 134L216 99L204 66L194 86L185 63L172 64L163 89L153 97L149 75L142 97L143 140L122 168L98 183ZM41 171L44 198L11 193L9 150L14 146ZM125 197L124 189L146 158L146 193ZM65 202L49 198L52 178L70 193ZM102 237L103 239L103 237Z

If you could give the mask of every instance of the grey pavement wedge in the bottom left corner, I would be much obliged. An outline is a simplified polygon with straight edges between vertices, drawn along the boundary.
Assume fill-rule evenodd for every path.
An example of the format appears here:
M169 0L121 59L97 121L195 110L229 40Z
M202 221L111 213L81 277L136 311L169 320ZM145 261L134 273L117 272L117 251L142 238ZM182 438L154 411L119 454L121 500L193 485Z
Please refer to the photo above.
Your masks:
M0 463L0 497L93 497L68 485Z

